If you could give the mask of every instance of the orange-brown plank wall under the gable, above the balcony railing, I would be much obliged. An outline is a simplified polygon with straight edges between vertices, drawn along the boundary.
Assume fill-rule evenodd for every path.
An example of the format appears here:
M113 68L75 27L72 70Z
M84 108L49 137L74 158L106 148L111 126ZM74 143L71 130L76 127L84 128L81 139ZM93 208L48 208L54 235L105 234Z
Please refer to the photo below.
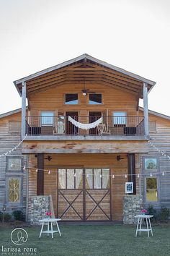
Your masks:
M81 90L84 88L80 85L62 85L57 88L45 90L40 93L30 94L30 116L40 115L40 111L55 111L63 114L66 111L78 111L79 116L89 116L89 111L106 111L108 108L109 116L112 111L127 111L128 116L137 116L135 95L116 90L102 84L86 83L86 88L96 93L102 93L101 105L89 105L89 95L83 96ZM78 105L66 105L65 93L79 93Z

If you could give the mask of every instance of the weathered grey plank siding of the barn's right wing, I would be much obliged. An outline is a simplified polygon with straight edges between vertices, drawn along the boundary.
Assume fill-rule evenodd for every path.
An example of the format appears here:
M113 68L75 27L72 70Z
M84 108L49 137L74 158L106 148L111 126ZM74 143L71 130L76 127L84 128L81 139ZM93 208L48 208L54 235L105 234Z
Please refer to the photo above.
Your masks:
M166 119L162 119L158 116L149 114L149 120L150 121L156 121L156 131L150 132L151 142L153 145L155 145L159 150L164 151L167 155L170 156L170 121ZM153 129L152 129L153 130ZM161 205L165 205L166 207L170 208L170 159L164 157L161 153L158 153L158 151L153 148L151 145L149 145L149 153L147 155L141 155L140 158L140 171L144 171L143 166L143 158L146 156L148 157L151 155L151 157L157 157L158 158L158 171L156 171L156 176L158 177L158 203L151 203L152 205L155 205L156 207L160 208ZM165 175L162 176L162 172L165 172ZM169 173L166 173L166 171L169 171ZM154 172L153 172L154 175ZM146 180L141 180L141 192L143 196L145 197L145 182ZM144 200L146 200L144 198Z

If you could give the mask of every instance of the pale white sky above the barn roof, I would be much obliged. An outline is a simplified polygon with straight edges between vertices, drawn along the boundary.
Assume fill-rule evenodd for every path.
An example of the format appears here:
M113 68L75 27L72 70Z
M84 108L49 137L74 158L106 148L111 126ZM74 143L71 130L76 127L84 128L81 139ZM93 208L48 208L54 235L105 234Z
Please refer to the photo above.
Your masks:
M0 0L0 114L14 80L87 53L155 81L148 108L170 116L169 49L169 0Z

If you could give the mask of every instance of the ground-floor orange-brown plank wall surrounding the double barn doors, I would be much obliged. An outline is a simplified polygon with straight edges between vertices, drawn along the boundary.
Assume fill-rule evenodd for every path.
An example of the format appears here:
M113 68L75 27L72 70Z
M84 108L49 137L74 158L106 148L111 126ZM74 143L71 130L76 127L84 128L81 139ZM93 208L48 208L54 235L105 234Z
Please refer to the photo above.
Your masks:
M128 158L127 154L121 154L124 158L117 161L117 154L51 154L51 161L45 160L45 169L52 170L51 174L45 171L45 195L52 195L53 205L56 213L57 209L57 168L110 168L111 174L120 175L128 174ZM45 158L47 155L45 155ZM138 174L139 157L136 154L136 173ZM37 158L35 155L30 155L29 166L34 167L29 171L29 197L36 195L36 171ZM111 178L111 198L112 198L112 218L113 220L122 220L122 197L125 195L125 182L128 178L125 176L115 176ZM139 184L137 180L137 193L139 193Z

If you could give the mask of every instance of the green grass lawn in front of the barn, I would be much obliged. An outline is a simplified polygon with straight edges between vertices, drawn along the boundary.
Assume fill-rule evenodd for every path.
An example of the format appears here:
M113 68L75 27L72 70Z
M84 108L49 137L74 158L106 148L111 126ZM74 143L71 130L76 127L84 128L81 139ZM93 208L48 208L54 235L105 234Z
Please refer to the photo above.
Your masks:
M40 256L170 255L170 226L153 224L153 236L150 238L146 232L142 232L140 237L135 237L135 226L122 224L112 226L62 226L61 224L60 227L62 236L55 233L53 239L48 238L47 234L42 234L41 239L38 239L40 227L24 228L28 234L24 247L37 248L36 255ZM0 255L3 255L1 254L2 245L18 247L11 242L12 230L11 227L0 227ZM23 249L22 246L20 248ZM6 255L12 255L12 253Z

